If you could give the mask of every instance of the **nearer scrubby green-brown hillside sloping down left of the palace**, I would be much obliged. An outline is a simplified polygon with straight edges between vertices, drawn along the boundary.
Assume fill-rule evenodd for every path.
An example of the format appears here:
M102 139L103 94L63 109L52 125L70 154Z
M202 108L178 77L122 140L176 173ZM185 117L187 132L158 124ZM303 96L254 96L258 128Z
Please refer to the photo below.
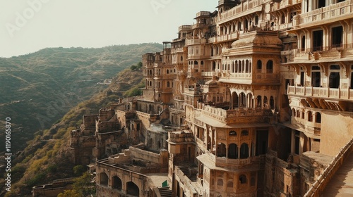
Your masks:
M125 92L121 89L133 89L141 81L143 81L142 70L126 68L114 77L109 87L71 108L50 129L37 132L35 139L28 141L28 146L15 160L17 165L13 166L11 171L11 177L13 176L11 192L6 193L6 197L31 196L32 186L47 184L54 179L77 176L82 169L73 166L69 159L71 155L68 153L71 130L80 127L86 110L97 113L100 108L118 101ZM110 91L112 94L107 94ZM0 179L0 184L4 185L4 179ZM66 194L76 195L85 192L76 189ZM2 195L4 193L0 193L0 196Z

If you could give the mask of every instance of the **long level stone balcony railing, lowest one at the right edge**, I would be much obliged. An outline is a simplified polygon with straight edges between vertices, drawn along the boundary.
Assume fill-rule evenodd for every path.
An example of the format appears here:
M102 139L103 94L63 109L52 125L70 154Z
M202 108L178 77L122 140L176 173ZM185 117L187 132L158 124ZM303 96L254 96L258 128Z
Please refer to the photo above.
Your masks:
M316 96L320 98L340 98L353 101L353 89L341 89L330 87L297 87L288 86L289 95Z

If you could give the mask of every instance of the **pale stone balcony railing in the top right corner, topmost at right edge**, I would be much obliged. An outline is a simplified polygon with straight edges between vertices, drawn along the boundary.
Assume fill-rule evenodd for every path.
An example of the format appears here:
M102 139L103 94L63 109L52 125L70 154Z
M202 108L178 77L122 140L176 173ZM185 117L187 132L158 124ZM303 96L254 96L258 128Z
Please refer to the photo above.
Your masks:
M301 13L299 21L297 21L297 24L295 25L308 25L309 23L321 20L333 20L335 17L349 14L352 14L351 1L342 1L340 3L330 4L330 6L318 8L307 13Z

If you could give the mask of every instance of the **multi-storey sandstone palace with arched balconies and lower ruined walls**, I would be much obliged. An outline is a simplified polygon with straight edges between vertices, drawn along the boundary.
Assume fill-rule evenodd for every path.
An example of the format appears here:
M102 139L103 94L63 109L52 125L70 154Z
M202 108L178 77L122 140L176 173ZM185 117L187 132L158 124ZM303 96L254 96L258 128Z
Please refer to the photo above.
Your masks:
M142 96L71 132L97 196L338 195L353 156L353 1L220 0L194 20L143 55Z

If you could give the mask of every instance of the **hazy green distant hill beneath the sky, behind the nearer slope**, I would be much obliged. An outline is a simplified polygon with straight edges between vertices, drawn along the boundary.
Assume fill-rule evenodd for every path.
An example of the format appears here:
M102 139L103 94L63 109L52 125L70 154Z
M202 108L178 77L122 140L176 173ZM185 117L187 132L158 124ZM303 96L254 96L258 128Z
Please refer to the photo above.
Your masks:
M143 53L161 49L161 44L60 47L0 58L0 129L4 130L5 117L11 117L11 152L22 150L35 132L49 128L73 106L107 88L97 83L138 63ZM0 146L0 153L4 148Z

